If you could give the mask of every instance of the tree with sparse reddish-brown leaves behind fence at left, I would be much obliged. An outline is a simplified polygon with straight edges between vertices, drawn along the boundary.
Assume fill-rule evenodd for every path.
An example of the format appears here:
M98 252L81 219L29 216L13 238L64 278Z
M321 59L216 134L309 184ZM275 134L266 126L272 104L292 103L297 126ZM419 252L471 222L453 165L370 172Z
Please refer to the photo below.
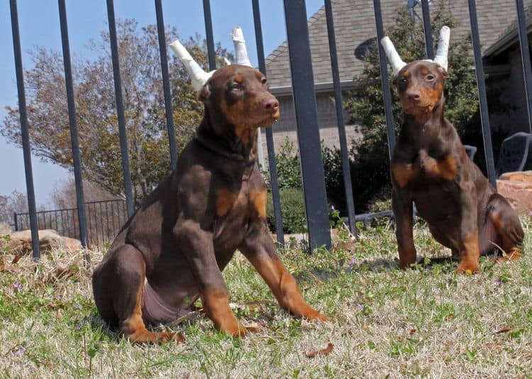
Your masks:
M165 103L155 25L138 27L131 19L119 21L118 55L126 116L131 180L135 200L149 194L170 172ZM167 40L177 38L167 28ZM206 67L206 46L199 37L184 43L191 55ZM113 87L109 33L102 31L89 48L94 59L73 62L76 116L84 177L111 194L123 194L123 173L118 143L118 121ZM218 59L229 56L218 44ZM173 54L168 55L172 104L178 151L194 134L203 114L189 75ZM231 56L229 56L231 59ZM67 112L62 55L45 48L31 52L33 68L26 70L28 120L33 153L72 169L72 149ZM8 106L0 133L21 145L18 109Z

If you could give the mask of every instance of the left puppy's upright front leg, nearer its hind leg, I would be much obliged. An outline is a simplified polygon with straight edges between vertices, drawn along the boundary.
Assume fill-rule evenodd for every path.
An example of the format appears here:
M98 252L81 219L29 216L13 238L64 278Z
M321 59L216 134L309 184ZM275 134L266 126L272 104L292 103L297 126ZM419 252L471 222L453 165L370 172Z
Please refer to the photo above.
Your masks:
M228 289L216 263L211 234L196 221L187 220L178 221L174 236L196 277L205 313L216 329L235 337L245 336L245 327L229 307Z

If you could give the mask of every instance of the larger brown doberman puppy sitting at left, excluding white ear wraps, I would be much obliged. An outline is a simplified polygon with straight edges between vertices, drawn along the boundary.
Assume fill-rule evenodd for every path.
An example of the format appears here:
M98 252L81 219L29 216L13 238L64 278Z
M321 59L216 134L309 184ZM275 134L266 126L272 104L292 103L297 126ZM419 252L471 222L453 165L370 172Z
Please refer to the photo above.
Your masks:
M250 67L217 70L199 93L205 105L196 136L177 168L131 216L94 270L101 317L128 339L182 339L146 324L171 322L201 297L216 329L248 330L229 307L221 271L238 249L295 317L327 320L305 302L266 225L266 185L256 163L257 128L279 119L279 102Z

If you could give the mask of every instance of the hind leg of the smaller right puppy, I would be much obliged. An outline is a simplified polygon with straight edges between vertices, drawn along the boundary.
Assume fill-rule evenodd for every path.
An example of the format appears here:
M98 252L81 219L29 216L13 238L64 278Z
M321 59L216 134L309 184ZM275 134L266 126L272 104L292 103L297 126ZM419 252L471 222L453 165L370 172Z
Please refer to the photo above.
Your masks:
M501 238L501 248L506 253L506 256L498 258L497 262L519 258L523 248L524 232L519 216L508 200L500 194L492 194L488 200L488 218Z

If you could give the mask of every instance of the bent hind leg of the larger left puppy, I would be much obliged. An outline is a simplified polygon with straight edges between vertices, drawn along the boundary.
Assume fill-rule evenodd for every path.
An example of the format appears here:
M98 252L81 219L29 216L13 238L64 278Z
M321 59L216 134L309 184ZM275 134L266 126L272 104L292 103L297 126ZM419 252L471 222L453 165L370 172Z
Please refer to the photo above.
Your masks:
M180 334L154 333L145 327L141 310L145 262L140 251L126 244L109 254L111 257L95 270L92 280L101 317L139 344L181 341Z

